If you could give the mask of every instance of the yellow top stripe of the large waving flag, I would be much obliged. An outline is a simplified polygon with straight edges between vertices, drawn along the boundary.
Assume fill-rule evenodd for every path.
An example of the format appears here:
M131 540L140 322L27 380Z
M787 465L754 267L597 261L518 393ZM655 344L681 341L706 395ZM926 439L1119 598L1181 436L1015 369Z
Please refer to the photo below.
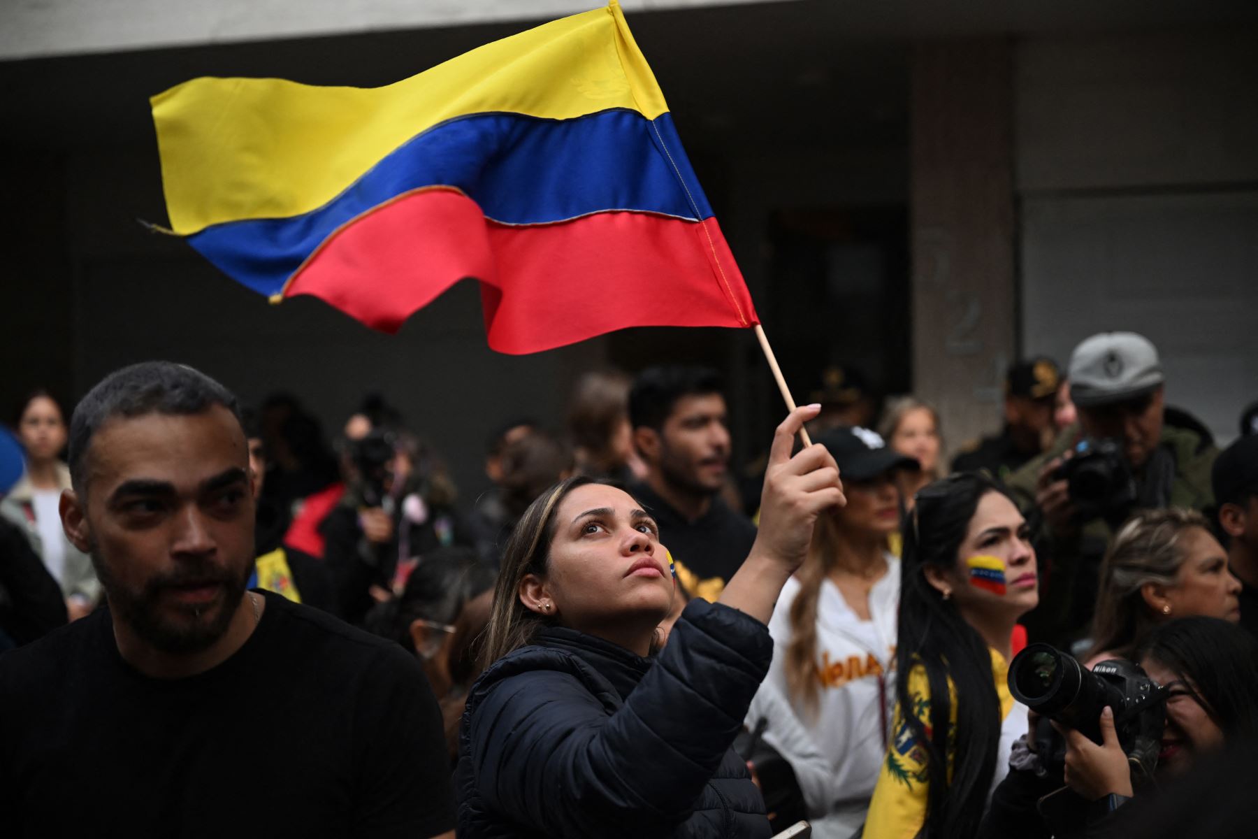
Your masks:
M171 229L301 215L447 119L668 111L615 0L379 88L199 78L152 97Z

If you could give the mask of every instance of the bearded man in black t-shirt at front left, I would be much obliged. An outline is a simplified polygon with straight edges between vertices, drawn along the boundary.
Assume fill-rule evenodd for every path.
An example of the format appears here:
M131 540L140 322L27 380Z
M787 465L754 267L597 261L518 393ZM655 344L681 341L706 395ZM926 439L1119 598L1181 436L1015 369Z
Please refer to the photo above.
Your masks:
M442 718L401 648L248 591L235 397L120 370L70 423L67 536L108 609L0 657L0 834L434 836Z

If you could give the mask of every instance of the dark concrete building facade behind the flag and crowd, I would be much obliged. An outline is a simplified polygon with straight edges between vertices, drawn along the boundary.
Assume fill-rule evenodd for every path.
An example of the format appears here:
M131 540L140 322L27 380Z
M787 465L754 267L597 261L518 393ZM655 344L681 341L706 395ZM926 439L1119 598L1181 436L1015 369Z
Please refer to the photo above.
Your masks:
M235 286L164 220L147 97L195 75L385 84L589 4L23 4L0 35L6 403L146 357L333 426L366 390L483 483L484 436L556 424L575 376L721 367L740 455L781 413L750 333L633 330L508 357L467 283L396 337ZM1227 439L1258 399L1258 9L1248 3L623 3L798 399L855 362L999 424L1003 367L1103 328L1162 350Z

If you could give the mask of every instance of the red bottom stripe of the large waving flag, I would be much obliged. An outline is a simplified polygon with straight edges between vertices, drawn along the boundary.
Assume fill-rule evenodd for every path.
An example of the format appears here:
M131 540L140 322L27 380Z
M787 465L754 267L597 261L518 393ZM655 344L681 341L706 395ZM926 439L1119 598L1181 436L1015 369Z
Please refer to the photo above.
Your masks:
M716 219L598 213L501 225L449 189L409 192L342 226L284 296L313 294L396 332L467 277L482 281L498 352L538 352L632 326L759 323Z

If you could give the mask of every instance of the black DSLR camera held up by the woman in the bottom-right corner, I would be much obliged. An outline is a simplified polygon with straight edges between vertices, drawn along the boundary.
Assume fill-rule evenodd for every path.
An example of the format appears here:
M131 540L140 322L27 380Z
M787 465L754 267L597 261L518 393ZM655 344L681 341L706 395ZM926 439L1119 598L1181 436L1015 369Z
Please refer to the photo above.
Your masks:
M1144 775L1152 775L1166 723L1165 688L1138 664L1123 659L1101 662L1088 670L1048 644L1032 644L1009 665L1009 692L1045 720L1074 728L1101 743L1101 711L1113 708L1113 728L1127 758ZM1042 760L1060 769L1066 741L1048 725L1035 732Z

